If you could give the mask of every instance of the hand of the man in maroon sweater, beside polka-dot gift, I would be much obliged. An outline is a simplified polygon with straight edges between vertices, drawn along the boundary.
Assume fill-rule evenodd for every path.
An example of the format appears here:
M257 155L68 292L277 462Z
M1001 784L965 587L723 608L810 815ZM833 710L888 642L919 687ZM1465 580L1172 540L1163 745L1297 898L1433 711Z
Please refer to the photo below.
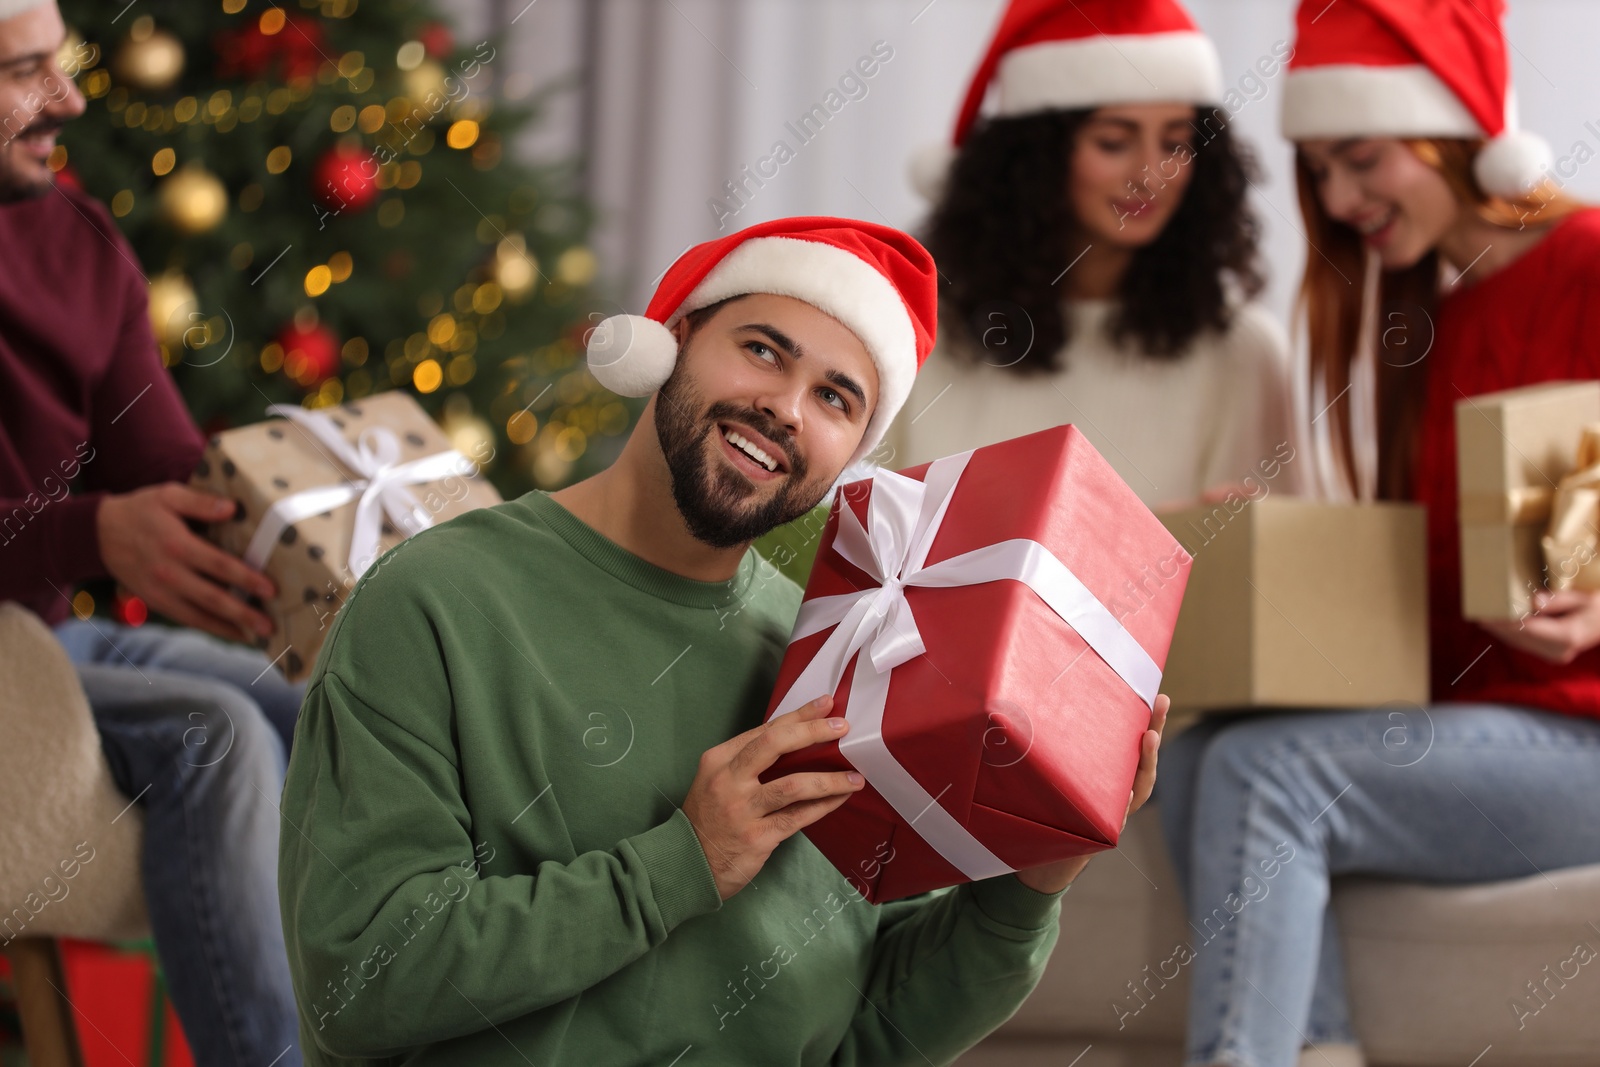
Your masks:
M221 522L234 507L226 496L178 482L107 496L94 517L101 560L152 611L181 625L234 640L266 637L272 633L272 619L226 585L272 598L277 595L272 581L184 523L186 518Z

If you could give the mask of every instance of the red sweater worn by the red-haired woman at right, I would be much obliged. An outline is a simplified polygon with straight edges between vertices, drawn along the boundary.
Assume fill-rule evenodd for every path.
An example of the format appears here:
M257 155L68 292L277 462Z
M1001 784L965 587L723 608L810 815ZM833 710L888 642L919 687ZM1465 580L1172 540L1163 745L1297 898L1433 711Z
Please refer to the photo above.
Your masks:
M1600 210L1562 219L1507 267L1450 293L1427 358L1416 496L1427 506L1434 699L1600 717L1600 648L1562 667L1461 617L1454 414L1462 397L1600 378Z

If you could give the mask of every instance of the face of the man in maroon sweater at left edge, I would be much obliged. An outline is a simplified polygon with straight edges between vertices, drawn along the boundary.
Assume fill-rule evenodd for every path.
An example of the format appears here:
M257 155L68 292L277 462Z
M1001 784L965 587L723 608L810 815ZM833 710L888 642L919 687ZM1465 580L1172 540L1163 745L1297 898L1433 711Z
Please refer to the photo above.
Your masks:
M50 189L56 131L83 114L83 94L56 61L64 38L54 3L0 19L0 203Z

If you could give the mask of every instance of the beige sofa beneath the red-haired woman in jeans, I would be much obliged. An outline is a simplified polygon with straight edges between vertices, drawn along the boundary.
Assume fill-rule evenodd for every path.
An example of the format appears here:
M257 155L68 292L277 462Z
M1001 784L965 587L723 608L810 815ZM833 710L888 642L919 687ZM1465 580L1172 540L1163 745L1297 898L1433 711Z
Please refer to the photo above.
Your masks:
M1600 1065L1600 958L1574 957L1600 952L1600 865L1464 888L1346 878L1333 899L1368 1064ZM1194 939L1146 808L1067 893L1038 989L962 1067L1178 1067L1189 971L1160 971Z

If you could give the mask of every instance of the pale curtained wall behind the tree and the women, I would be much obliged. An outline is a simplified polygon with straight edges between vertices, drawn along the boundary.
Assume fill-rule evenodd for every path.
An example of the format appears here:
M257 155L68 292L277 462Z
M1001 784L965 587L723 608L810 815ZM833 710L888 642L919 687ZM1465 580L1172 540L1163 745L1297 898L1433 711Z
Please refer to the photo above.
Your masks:
M787 141L795 158L754 192L730 229L782 214L843 214L918 224L906 158L947 136L957 102L1000 11L1000 0L451 0L462 30L510 26L504 85L525 93L584 67L584 24L597 42L586 101L560 101L530 139L534 154L576 150L592 131L592 192L605 211L597 245L626 304L643 306L653 280L686 245L718 232L707 200L742 165ZM1288 0L1190 0L1216 38L1230 85L1290 37ZM1557 157L1584 141L1600 154L1597 0L1512 0L1514 78L1523 125ZM808 144L786 128L835 86L874 42L894 50ZM1277 136L1282 75L1237 115L1266 171L1269 306L1286 315L1304 256L1290 150ZM1594 123L1587 130L1586 123ZM1600 200L1600 162L1573 170L1570 189ZM1026 240L1026 235L1021 237Z

